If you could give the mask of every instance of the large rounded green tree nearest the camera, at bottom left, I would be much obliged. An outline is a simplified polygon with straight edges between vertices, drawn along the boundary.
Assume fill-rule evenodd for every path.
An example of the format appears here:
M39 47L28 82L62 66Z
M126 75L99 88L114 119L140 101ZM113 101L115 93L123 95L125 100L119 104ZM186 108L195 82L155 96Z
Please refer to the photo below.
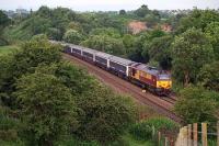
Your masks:
M30 145L51 146L76 127L76 104L70 90L53 75L34 72L16 81L15 97Z

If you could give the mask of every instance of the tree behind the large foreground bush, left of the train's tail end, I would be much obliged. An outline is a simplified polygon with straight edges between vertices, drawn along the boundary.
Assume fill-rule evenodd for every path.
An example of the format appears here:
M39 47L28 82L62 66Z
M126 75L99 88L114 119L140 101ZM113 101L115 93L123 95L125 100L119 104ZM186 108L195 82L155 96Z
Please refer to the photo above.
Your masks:
M13 56L14 78L34 70L39 64L49 65L61 60L60 46L51 44L46 35L33 36Z

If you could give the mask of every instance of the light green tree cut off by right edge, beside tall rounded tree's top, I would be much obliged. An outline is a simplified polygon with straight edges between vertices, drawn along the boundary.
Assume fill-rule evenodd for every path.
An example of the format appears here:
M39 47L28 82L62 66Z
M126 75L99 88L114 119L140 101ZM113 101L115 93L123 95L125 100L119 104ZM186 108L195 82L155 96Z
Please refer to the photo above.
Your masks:
M212 44L216 59L219 60L219 22L208 24L205 29L205 34Z

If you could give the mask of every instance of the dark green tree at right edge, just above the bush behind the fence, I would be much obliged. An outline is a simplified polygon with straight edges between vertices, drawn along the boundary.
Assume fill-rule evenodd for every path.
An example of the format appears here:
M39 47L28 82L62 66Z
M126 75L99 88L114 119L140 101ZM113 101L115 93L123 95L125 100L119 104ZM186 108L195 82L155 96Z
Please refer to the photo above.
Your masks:
M199 82L207 89L219 91L219 61L205 65L198 75Z

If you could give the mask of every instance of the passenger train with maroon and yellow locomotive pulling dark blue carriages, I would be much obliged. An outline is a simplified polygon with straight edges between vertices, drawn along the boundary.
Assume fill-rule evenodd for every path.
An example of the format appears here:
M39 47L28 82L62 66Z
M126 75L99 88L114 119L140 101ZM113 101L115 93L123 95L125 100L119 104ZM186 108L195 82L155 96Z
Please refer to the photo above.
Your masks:
M99 66L143 90L166 97L171 93L172 79L168 71L79 45L68 43L61 43L61 45L65 46L66 54Z

